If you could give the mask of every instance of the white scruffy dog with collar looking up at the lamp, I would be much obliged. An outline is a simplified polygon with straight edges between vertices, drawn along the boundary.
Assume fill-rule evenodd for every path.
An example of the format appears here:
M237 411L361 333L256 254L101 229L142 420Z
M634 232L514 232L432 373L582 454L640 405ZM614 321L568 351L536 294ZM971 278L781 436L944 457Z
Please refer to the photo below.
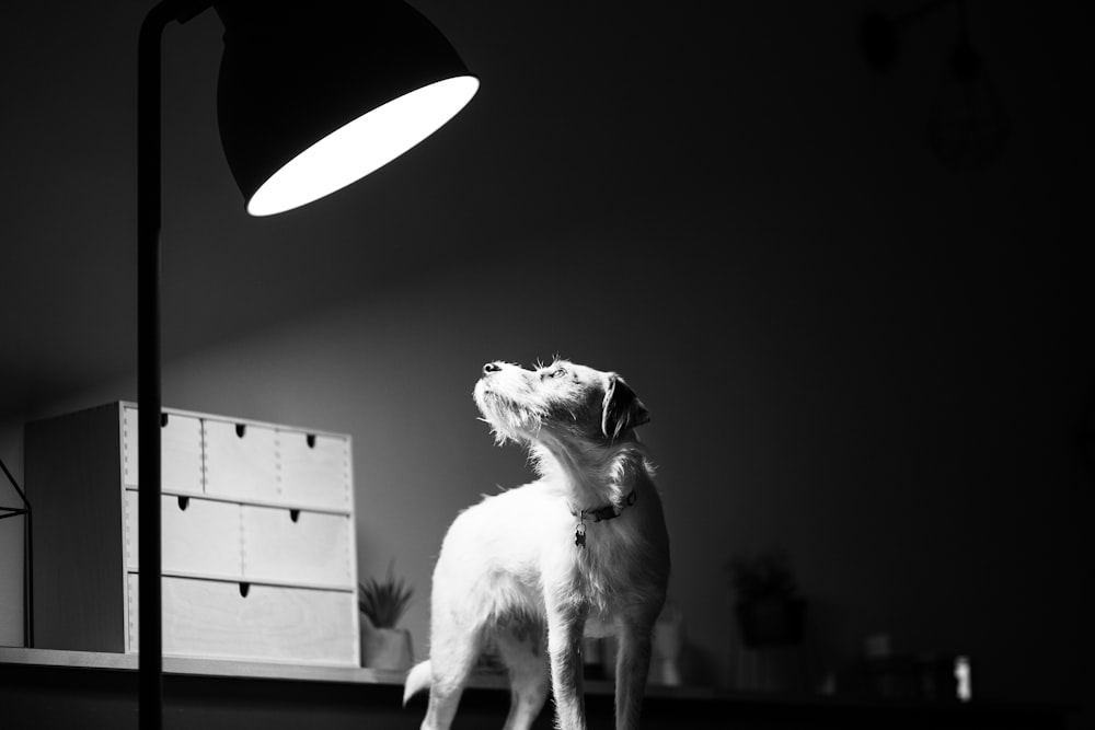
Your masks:
M452 522L434 570L429 660L407 675L404 703L428 686L422 727L448 728L491 651L509 673L507 730L532 723L549 686L556 725L585 728L583 637L615 636L616 728L637 728L669 578L661 501L634 431L646 408L615 373L566 361L487 363L475 403L499 444L528 447L540 479Z

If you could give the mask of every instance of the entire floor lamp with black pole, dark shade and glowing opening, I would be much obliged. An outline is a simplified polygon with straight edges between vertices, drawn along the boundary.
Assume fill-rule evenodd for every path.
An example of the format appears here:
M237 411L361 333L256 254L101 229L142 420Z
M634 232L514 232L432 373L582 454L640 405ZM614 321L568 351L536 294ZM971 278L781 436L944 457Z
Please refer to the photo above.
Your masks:
M137 68L139 720L163 725L160 393L160 44L212 7L224 25L221 144L247 212L311 202L440 128L479 89L443 35L402 0L164 0ZM148 578L153 579L149 580Z

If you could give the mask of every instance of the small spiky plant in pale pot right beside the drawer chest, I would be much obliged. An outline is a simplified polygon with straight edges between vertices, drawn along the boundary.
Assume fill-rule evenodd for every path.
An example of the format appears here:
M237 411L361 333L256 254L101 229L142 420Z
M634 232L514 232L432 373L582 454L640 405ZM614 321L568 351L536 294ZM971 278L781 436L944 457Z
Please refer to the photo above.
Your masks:
M394 559L383 580L369 578L357 586L361 613L361 664L372 669L402 671L411 668L414 653L411 631L399 628L414 589L395 576Z

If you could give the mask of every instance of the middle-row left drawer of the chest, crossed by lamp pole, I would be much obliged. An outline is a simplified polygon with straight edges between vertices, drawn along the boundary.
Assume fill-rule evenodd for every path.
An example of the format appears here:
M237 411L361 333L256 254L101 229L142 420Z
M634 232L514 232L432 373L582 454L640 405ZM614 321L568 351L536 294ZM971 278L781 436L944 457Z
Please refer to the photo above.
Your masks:
M126 568L137 570L138 494L126 490ZM243 575L240 506L192 497L161 498L164 572Z

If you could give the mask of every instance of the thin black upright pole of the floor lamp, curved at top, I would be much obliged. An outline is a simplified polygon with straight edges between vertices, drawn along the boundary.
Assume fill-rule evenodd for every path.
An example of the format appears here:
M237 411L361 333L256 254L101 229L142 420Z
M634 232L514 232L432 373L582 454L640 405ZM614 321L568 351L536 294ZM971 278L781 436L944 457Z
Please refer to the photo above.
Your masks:
M141 730L163 727L160 459L160 42L168 23L185 23L211 2L164 0L137 40L137 519L138 712Z

